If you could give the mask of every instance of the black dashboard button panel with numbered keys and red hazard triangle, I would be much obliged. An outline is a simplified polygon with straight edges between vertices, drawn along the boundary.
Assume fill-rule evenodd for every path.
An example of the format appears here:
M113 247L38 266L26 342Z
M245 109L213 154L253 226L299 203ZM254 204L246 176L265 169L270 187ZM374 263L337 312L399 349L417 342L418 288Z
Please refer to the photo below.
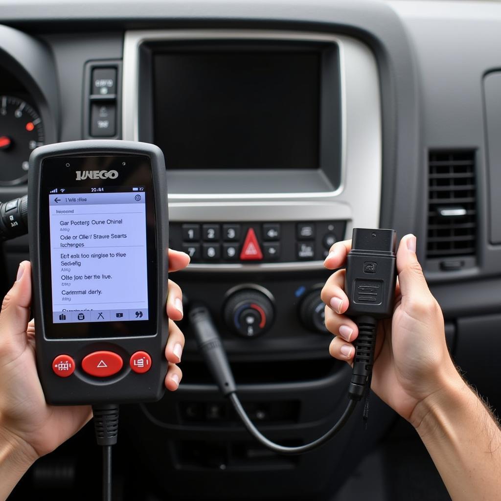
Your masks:
M323 261L345 230L346 221L183 221L170 223L169 237L192 263L295 263Z

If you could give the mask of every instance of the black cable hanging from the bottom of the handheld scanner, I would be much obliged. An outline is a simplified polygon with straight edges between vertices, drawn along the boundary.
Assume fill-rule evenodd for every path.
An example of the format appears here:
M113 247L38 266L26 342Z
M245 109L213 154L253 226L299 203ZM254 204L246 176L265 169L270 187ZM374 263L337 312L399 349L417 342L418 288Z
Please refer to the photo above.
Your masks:
M111 447L118 437L118 405L93 405L96 441L103 447L103 501L111 501L112 468Z

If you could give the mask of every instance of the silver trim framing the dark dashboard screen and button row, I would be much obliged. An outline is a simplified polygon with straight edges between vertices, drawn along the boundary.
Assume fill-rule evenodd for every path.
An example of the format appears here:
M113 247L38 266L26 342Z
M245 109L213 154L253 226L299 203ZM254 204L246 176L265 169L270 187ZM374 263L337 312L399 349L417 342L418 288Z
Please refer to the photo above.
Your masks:
M338 44L341 75L341 184L315 193L169 193L172 221L347 221L353 227L379 226L382 177L382 132L376 60L362 42L344 35L263 30L127 31L124 39L123 138L137 141L139 48L147 41L249 39L324 41ZM195 271L273 271L322 269L323 262L262 264L192 264ZM184 273L184 272L183 272Z

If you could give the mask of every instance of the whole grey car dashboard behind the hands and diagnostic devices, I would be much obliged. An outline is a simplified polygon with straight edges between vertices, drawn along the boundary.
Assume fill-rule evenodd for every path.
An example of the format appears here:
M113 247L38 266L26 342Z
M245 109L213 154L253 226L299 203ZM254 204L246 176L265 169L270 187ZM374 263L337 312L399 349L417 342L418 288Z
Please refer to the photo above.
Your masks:
M501 403L499 374L485 364L486 347L501 346L501 6L0 7L0 200L26 194L28 158L42 144L157 144L170 247L191 257L172 279L185 312L209 308L243 405L265 434L307 443L345 407L350 370L329 356L320 290L329 248L354 227L417 235L454 360ZM23 259L27 237L4 243L4 293ZM372 397L367 431L360 408L319 450L272 453L239 424L188 323L180 327L178 391L121 411L117 498L341 499L352 467L395 427ZM13 499L88 497L98 462L84 429L38 461Z

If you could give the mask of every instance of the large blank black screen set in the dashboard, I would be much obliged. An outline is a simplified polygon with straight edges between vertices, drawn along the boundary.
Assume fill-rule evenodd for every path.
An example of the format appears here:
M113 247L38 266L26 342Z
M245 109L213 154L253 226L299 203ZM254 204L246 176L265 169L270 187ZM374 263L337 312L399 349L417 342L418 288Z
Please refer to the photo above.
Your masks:
M319 51L172 51L152 66L169 170L320 167Z

